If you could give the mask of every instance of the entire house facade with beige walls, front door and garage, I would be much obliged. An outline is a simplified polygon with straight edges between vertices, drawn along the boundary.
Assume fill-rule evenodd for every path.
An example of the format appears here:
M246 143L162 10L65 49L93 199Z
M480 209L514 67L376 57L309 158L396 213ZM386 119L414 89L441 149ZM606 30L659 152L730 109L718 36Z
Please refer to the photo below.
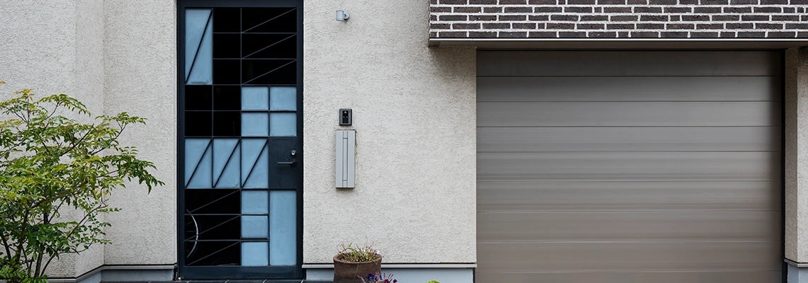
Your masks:
M5 94L148 118L122 142L166 182L114 192L112 244L53 282L327 281L341 243L402 282L808 281L805 0L19 1L0 27Z

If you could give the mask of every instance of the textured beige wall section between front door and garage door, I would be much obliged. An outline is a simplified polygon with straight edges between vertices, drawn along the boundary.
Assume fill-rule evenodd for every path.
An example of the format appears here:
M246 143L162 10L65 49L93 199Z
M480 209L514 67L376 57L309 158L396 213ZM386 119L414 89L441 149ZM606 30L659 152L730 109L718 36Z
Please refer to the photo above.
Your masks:
M304 10L303 261L367 241L389 263L476 262L475 50L427 48L423 0ZM353 109L356 189L335 189L339 108Z

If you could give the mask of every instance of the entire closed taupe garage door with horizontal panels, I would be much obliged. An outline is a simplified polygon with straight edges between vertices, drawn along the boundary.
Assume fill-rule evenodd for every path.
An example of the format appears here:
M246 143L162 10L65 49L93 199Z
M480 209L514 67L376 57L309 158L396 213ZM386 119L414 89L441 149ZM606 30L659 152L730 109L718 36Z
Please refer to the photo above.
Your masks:
M477 281L781 281L781 93L779 52L478 52Z

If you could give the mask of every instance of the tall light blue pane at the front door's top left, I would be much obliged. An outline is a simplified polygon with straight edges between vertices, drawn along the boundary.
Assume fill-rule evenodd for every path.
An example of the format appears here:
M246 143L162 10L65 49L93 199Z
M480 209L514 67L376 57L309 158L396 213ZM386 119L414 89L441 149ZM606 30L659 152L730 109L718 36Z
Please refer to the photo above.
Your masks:
M189 20L188 15L191 15L194 19ZM188 30L194 30L194 34L187 35L185 40L186 83L188 85L210 85L213 83L213 17L209 17L209 15L210 9L186 10L186 34L188 34ZM205 23L207 23L207 27L205 27ZM199 31L204 31L200 35L201 42L200 38L196 37ZM189 56L191 64L188 64Z

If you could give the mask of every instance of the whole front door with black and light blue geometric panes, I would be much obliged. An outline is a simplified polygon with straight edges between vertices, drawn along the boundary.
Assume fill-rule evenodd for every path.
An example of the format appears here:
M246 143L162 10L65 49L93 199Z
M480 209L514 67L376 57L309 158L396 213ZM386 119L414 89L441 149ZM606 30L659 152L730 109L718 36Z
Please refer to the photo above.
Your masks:
M179 1L179 277L302 277L302 15Z

